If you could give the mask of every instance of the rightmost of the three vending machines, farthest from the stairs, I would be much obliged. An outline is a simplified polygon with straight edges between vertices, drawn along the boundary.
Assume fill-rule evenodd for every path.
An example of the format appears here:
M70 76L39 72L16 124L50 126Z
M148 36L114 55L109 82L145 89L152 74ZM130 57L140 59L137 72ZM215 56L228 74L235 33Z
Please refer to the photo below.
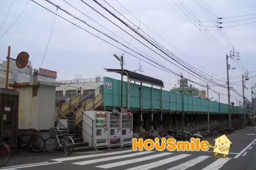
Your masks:
M128 146L132 144L133 138L133 127L132 127L132 114L127 112L127 114L121 114L121 146Z

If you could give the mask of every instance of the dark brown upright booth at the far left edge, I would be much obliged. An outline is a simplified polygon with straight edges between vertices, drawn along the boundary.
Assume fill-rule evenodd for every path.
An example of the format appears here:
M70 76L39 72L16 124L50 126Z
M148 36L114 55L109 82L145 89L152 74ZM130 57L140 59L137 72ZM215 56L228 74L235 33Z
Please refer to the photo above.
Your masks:
M18 108L20 92L0 89L0 141L10 148L18 144Z

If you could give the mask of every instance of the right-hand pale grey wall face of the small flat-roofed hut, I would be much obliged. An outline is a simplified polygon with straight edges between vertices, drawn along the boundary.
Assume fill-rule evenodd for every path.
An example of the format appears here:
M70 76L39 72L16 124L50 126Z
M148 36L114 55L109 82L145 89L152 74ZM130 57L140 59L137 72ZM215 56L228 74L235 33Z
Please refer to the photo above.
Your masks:
M55 87L40 85L38 87L39 130L54 127Z

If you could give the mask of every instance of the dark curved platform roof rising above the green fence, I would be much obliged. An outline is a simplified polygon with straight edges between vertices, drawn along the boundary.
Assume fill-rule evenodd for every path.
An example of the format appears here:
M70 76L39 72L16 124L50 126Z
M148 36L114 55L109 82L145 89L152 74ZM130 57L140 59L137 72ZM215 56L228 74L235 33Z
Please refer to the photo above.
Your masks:
M105 70L107 70L107 72L115 72L115 73L120 73L120 74L122 72L121 69L105 69ZM138 81L138 82L145 83L145 84L151 84L153 86L164 87L162 80L148 77L146 75L132 72L130 70L123 70L123 71L124 71L123 75L127 75L130 80Z

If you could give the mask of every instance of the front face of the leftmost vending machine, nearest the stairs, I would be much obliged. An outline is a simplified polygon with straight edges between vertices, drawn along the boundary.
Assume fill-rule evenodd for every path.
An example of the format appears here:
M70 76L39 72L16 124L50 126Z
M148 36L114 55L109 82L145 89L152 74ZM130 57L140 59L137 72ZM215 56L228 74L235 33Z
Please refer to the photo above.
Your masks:
M95 112L95 148L108 146L108 112Z

